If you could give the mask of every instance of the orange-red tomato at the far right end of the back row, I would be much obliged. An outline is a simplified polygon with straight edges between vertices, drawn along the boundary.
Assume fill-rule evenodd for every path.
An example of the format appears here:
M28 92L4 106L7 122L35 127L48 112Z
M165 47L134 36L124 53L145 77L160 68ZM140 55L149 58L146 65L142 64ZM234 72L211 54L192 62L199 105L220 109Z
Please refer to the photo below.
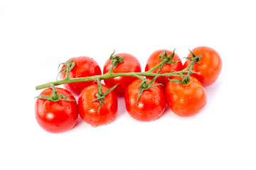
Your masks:
M198 63L193 64L193 69L197 73L191 75L196 77L203 86L210 86L218 79L221 72L222 60L220 55L210 47L196 47L192 52L196 56L202 55L203 57ZM188 57L192 58L191 53L189 53ZM184 67L187 67L189 63L191 63L191 60L187 59Z

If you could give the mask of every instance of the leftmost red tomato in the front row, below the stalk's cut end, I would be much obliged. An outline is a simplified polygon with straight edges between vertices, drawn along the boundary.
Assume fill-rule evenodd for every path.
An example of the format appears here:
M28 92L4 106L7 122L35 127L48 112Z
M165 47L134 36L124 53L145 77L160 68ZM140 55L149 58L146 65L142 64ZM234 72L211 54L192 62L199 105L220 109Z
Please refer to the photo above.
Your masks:
M66 89L56 88L58 94L70 95ZM52 89L44 90L40 96L52 94ZM74 96L68 96L75 100ZM74 127L78 119L78 105L76 101L46 101L46 99L36 99L36 120L44 130L48 132L66 132Z

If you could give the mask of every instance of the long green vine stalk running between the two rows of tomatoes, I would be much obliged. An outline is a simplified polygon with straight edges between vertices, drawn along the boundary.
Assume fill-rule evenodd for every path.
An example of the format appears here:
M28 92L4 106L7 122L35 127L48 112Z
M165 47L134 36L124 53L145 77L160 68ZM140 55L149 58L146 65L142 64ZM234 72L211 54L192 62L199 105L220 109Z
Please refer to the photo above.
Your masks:
M114 54L114 52L112 53L112 55ZM174 54L174 53L173 53ZM112 55L110 57L112 57ZM159 56L161 56L163 54L160 54ZM195 64L196 62L200 61L201 55L196 56L193 55L193 58L189 58L189 60L191 60L191 63L188 64L188 66L181 70L181 71L177 71L177 72L168 72L168 73L154 73L153 71L157 68L163 67L164 64L166 63L170 63L170 64L174 64L171 62L173 55L171 56L166 56L166 54L164 55L164 57L161 59L161 62L159 64L156 65L156 67L154 67L153 69L150 69L147 72L125 72L125 73L113 73L112 70L114 69L114 67L119 63L122 62L122 57L115 58L112 57L112 60L116 60L116 62L114 62L115 64L112 65L112 69L110 69L110 72L107 72L106 74L102 74L102 75L97 75L97 76L92 76L92 77L79 77L79 78L70 78L68 76L68 73L70 72L70 69L72 69L74 67L74 62L73 60L70 60L71 63L63 63L66 65L66 71L67 71L67 77L65 77L65 79L61 79L61 80L57 80L57 81L51 81L48 82L46 84L41 84L39 86L36 86L36 90L40 90L40 89L46 89L49 88L51 86L58 86L60 84L70 84L70 83L77 83L77 82L82 82L82 81L95 81L95 80L102 80L102 79L111 79L114 77L184 77L184 74L188 74L188 73L196 73L195 71L193 71L193 64ZM180 62L180 61L178 61ZM160 71L159 69L159 71ZM65 70L61 70L60 72L64 72Z

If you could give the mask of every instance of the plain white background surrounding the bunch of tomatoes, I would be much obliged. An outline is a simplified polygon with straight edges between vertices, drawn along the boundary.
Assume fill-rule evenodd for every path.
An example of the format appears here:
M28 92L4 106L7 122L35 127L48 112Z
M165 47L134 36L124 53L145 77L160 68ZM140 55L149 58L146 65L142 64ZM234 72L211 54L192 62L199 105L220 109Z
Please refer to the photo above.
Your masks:
M0 169L256 169L253 1L0 1ZM154 122L132 119L119 98L116 120L79 120L62 134L42 130L35 87L58 64L88 56L103 67L113 50L144 69L159 49L183 58L206 45L223 59L198 115L167 109Z

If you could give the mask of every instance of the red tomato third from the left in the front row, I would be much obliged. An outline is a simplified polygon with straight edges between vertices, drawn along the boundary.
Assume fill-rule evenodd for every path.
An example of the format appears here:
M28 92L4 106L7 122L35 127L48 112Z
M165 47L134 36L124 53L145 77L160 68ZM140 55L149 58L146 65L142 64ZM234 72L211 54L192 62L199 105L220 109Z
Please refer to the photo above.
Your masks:
M164 91L161 85L144 90L137 102L141 82L141 79L133 81L125 91L124 100L127 111L136 120L144 122L156 120L164 113L166 108ZM149 80L146 82L149 83ZM152 85L155 84L157 84L156 81Z

